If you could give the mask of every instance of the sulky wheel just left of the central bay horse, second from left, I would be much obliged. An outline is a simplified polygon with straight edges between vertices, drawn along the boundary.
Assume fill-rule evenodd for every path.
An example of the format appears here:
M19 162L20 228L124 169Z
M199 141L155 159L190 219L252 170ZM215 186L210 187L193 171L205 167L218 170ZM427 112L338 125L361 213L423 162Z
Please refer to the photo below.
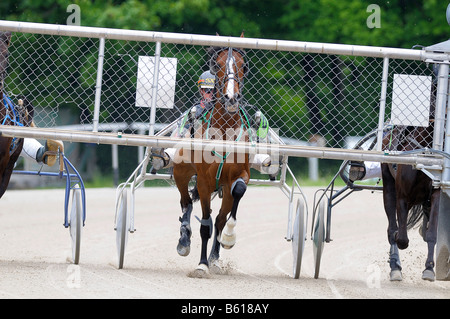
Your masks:
M119 205L116 216L116 244L118 254L118 268L123 268L125 247L128 241L129 217L127 212L127 189L124 188L119 198Z

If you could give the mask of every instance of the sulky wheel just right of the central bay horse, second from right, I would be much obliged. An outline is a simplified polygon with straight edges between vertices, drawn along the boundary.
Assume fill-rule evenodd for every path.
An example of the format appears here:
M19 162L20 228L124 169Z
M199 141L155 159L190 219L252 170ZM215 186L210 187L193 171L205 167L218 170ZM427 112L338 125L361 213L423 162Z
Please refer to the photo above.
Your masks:
M297 201L297 210L294 220L294 231L292 234L292 254L294 257L294 278L300 276L300 268L302 265L302 256L305 249L306 240L306 221L304 203L301 198Z

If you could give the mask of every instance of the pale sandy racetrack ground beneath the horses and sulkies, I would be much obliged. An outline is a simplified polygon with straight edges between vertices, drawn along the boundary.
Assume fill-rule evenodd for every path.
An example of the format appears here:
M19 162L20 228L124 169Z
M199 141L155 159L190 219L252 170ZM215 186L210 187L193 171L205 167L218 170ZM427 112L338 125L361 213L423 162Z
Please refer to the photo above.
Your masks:
M315 188L305 188L309 218ZM87 189L87 220L79 265L68 262L64 190L9 190L0 200L0 298L432 298L448 299L450 282L421 279L426 244L417 230L401 252L403 282L389 281L387 221L380 193L352 194L333 208L320 277L314 279L310 227L301 274L292 278L285 240L288 200L279 188L248 189L238 211L237 244L222 250L227 273L191 278L200 254L192 218L191 254L176 252L180 216L175 188L140 188L124 269L117 269L115 189ZM213 201L214 216L218 199ZM193 215L200 216L200 205Z

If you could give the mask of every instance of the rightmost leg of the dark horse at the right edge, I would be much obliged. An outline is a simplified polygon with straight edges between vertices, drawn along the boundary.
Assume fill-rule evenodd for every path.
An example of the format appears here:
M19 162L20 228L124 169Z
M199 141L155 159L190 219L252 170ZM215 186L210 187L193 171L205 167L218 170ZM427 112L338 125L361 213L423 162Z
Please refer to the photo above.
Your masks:
M439 195L440 195L439 189L433 190L433 194L431 195L430 217L425 233L425 241L427 242L428 245L428 256L427 261L425 262L425 270L422 273L422 279L429 281L434 281L436 278L436 275L434 273L434 248L436 246L437 240Z

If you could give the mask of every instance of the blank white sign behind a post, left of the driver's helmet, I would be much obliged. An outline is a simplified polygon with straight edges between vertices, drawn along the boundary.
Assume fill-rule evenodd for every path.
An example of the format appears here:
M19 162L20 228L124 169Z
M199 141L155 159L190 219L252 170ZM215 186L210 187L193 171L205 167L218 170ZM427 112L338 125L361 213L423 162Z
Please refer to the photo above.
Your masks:
M171 109L175 100L175 83L177 76L176 58L159 60L158 96L156 107ZM136 106L152 106L153 73L155 71L155 57L140 56L138 62L138 76L136 84Z

